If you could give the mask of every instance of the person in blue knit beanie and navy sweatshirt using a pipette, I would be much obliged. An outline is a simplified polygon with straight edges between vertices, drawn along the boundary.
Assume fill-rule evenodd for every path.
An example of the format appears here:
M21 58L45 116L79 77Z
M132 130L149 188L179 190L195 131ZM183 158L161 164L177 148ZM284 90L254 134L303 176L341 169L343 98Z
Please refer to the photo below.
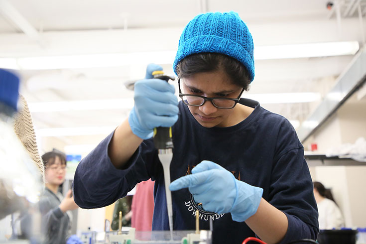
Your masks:
M236 12L194 17L179 40L175 89L147 66L128 119L78 165L76 203L99 208L155 180L152 230L169 230L155 127L172 126L173 229L213 221L213 244L259 237L268 244L317 238L318 213L304 148L284 117L241 98L254 80L253 40ZM169 189L167 189L169 190Z

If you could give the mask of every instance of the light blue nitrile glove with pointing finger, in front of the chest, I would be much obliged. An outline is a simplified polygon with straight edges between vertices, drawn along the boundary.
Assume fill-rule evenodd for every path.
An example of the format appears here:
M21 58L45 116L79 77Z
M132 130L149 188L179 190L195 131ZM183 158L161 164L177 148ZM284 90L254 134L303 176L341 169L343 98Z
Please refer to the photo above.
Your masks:
M235 179L233 173L207 160L194 167L192 174L173 181L169 188L176 191L187 187L205 210L231 213L237 222L256 213L263 194L262 188Z

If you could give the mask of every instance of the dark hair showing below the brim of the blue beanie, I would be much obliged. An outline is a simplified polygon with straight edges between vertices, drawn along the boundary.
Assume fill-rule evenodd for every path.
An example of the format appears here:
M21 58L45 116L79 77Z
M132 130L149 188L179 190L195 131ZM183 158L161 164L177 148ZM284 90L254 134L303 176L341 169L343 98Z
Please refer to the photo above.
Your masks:
M223 70L234 84L249 90L250 78L244 64L221 53L196 53L185 57L177 65L178 78L196 73Z

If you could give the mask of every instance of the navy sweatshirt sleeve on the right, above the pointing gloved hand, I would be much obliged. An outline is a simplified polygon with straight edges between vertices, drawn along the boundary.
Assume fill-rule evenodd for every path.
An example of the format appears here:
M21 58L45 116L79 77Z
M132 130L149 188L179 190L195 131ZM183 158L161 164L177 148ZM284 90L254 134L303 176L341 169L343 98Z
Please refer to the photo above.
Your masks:
M304 148L289 122L277 138L270 179L268 202L285 213L288 229L281 244L299 239L316 240L319 232L318 210L313 182L304 159Z

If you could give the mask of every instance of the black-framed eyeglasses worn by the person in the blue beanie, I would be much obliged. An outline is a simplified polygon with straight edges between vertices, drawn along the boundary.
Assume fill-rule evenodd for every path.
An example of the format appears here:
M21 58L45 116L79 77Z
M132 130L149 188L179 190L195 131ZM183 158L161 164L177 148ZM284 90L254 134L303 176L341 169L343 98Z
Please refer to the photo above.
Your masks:
M239 103L240 97L244 92L243 90L240 92L238 98L207 98L200 95L193 94L184 94L180 90L180 79L178 79L178 87L179 87L179 97L182 99L183 103L189 106L202 106L206 103L206 101L211 101L211 103L218 109L232 109Z

